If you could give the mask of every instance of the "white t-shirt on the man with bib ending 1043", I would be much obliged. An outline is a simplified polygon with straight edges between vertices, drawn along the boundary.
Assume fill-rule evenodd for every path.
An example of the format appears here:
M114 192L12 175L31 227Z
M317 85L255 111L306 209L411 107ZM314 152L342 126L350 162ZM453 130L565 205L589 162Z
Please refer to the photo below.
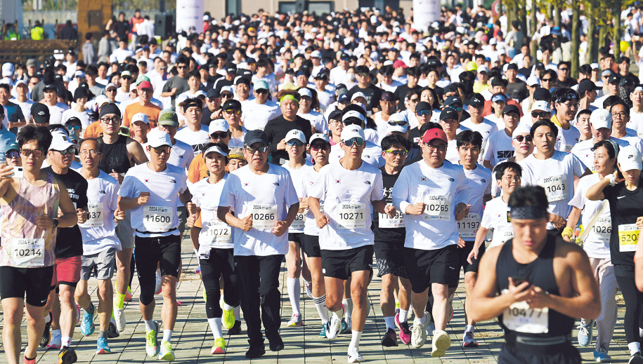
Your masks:
M585 165L577 156L564 151L554 151L552 158L536 159L534 154L520 161L523 186L542 186L545 188L549 208L547 210L563 218L571 213L569 201L574 193L574 176L585 173ZM554 229L547 222L547 229Z

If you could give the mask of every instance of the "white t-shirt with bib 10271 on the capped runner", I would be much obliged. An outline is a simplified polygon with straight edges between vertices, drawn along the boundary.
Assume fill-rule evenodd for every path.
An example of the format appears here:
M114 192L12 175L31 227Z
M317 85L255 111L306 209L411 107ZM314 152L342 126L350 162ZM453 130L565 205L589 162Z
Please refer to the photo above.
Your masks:
M321 249L347 250L374 244L371 205L384 198L379 169L362 163L356 170L347 170L339 161L331 161L320 169L310 196L323 201L323 213L330 220L319 234Z

